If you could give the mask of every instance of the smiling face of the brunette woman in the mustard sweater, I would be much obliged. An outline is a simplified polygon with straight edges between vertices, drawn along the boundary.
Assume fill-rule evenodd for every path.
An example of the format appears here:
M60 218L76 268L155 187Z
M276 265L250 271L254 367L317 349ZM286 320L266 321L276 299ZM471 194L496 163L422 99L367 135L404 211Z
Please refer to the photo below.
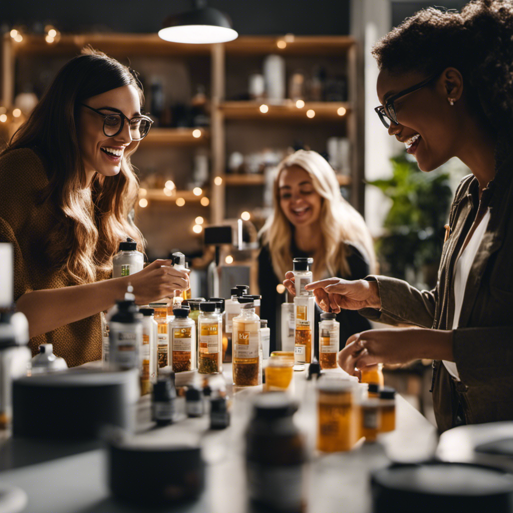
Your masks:
M87 98L84 104L104 114L123 112L128 119L141 114L139 91L133 86L117 87L102 94ZM112 110L115 109L115 110ZM138 144L132 141L129 124L125 120L123 130L114 137L103 132L104 118L86 107L81 107L78 120L78 145L90 182L94 172L114 176L120 172L123 157L131 153Z

